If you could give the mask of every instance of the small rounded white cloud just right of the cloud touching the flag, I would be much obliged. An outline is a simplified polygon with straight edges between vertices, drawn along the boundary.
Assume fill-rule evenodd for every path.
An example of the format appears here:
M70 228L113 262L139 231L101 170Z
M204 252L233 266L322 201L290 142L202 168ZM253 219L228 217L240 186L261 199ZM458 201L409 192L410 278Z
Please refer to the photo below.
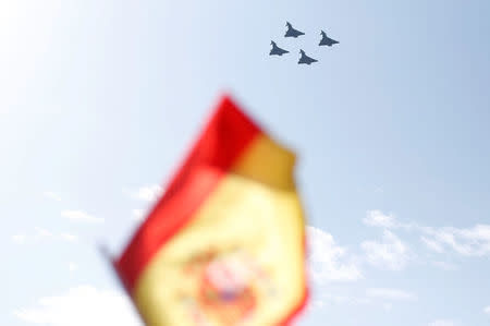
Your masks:
M382 269L401 270L411 258L408 246L388 230L384 230L382 242L364 241L360 247L368 263Z

